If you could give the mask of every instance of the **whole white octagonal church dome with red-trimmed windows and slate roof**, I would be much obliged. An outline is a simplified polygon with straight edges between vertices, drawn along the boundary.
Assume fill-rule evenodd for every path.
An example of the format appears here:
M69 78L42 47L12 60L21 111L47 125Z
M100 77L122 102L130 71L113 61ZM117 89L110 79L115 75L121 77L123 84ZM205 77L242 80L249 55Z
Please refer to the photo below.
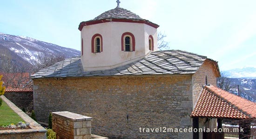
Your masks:
M107 70L133 63L157 51L159 25L121 8L81 22L81 63L84 71Z

